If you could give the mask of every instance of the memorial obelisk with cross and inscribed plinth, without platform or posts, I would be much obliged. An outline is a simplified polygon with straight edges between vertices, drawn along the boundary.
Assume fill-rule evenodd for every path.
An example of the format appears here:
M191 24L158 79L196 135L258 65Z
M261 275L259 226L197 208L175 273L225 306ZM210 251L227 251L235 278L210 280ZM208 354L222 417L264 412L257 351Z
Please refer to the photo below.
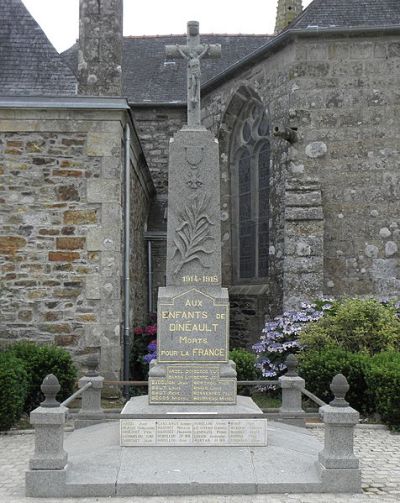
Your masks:
M133 398L122 415L138 410L184 415L150 423L123 419L121 445L265 445L266 420L249 419L261 410L237 397L236 371L228 359L218 144L200 123L200 60L218 57L221 47L201 44L193 21L187 45L167 46L166 52L187 60L188 124L170 142L167 286L158 295L158 355L149 373L148 405L141 405L147 397ZM206 418L187 419L190 413ZM231 420L217 418L227 413Z

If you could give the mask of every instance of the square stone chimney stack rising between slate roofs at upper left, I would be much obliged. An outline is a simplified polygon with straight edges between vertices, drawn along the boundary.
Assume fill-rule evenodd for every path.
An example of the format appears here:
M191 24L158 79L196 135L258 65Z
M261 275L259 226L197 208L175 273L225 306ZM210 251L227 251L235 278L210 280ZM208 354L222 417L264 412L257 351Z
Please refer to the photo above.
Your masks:
M79 0L78 93L122 94L123 0Z

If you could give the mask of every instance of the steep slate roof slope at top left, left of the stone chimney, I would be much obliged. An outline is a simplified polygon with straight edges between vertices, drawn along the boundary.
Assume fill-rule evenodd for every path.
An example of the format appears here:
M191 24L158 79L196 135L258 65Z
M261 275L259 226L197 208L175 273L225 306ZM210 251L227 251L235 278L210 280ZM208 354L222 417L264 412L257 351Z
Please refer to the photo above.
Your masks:
M0 94L71 95L76 85L21 0L0 0Z

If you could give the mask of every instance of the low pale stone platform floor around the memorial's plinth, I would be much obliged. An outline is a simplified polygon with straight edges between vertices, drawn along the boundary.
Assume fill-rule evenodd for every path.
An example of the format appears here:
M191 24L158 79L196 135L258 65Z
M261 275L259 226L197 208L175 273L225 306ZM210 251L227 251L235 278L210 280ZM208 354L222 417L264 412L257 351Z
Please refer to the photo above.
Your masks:
M240 495L324 493L317 463L321 443L304 428L268 421L265 447L121 447L119 424L67 434L64 470L30 470L26 492L36 497ZM61 473L60 473L61 472ZM359 492L357 474L336 492ZM358 485L357 485L358 483Z

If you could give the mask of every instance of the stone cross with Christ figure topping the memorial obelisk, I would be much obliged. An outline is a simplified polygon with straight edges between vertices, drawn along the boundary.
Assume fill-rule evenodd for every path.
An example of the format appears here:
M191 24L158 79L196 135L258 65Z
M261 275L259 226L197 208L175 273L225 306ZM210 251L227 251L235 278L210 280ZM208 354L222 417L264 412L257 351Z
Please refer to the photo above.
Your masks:
M220 44L200 44L199 23L189 21L187 24L187 44L165 46L166 55L170 58L184 58L187 61L187 123L199 127L200 123L200 59L219 58Z

